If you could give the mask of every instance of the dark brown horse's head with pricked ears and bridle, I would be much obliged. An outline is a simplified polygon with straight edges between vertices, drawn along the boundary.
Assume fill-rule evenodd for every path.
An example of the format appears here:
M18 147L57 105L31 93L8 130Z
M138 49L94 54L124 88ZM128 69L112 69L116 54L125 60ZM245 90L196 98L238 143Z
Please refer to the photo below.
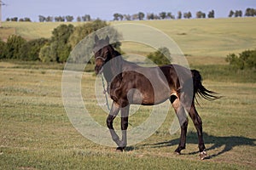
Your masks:
M95 54L95 71L96 74L99 74L103 70L103 65L105 65L108 60L112 58L113 47L109 44L109 37L107 36L105 39L99 39L99 37L95 37L95 45L93 48L93 52Z

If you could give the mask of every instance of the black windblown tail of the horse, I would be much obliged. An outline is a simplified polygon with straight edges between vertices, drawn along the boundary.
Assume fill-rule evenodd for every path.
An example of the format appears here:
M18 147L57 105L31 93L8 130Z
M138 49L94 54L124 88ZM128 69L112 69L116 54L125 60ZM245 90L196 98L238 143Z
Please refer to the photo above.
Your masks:
M195 94L197 94L197 96L201 96L202 98L207 100L220 98L219 96L216 95L217 93L207 90L207 88L205 88L202 85L201 74L199 71L191 70L191 73L192 73L193 83L194 83L194 96ZM196 96L195 96L195 100L197 101Z

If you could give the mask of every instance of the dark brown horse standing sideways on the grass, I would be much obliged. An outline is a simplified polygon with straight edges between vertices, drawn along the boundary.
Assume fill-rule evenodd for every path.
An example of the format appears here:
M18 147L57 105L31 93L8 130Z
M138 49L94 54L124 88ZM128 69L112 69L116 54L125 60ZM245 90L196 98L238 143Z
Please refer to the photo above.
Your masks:
M195 109L196 94L204 99L218 99L217 93L202 85L199 71L189 70L182 65L143 67L123 59L122 55L109 44L109 37L94 38L96 75L102 74L108 82L108 94L113 100L107 118L107 126L116 150L123 151L127 145L126 131L130 105L158 105L170 100L181 127L180 142L175 152L180 155L186 148L188 112L194 122L201 160L207 156L203 140L202 121ZM191 83L189 83L189 77ZM137 89L137 90L134 90ZM189 94L190 92L190 94ZM113 128L113 120L121 114L122 139Z

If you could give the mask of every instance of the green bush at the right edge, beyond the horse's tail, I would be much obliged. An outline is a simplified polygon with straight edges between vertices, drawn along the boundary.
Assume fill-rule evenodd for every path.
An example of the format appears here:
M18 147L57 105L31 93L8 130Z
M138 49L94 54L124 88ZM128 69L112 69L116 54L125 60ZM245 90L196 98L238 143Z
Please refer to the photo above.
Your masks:
M256 69L256 49L243 51L239 56L229 54L226 61L235 69Z

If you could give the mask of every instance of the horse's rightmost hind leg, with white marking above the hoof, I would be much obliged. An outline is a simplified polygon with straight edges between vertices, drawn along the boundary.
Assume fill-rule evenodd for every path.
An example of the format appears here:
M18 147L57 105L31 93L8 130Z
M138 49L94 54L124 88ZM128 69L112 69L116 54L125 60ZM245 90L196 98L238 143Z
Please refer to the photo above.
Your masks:
M206 158L207 152L205 151L206 146L204 144L204 139L203 139L201 117L198 115L197 111L195 110L195 104L194 103L191 105L191 108L190 108L190 111L189 111L189 116L191 117L192 121L194 122L196 131L197 131L198 148L199 148L201 160L203 160L203 159Z

